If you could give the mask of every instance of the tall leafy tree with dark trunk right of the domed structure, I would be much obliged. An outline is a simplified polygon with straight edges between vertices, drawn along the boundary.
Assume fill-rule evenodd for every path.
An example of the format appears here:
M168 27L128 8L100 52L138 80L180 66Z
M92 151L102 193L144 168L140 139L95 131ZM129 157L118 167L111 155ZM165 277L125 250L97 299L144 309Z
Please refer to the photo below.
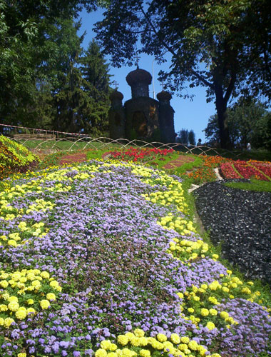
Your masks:
M205 86L207 101L215 99L220 143L230 146L227 104L242 92L264 91L271 96L270 84L257 86L256 74L267 73L270 64L270 24L260 0L111 0L105 18L96 24L104 53L111 54L115 66L131 64L138 52L154 55L158 63L171 54L170 71L160 72L170 89L181 91ZM255 25L252 19L257 18ZM257 26L257 32L250 34ZM261 41L266 39L266 46ZM267 67L265 69L265 67ZM264 78L267 78L265 76Z

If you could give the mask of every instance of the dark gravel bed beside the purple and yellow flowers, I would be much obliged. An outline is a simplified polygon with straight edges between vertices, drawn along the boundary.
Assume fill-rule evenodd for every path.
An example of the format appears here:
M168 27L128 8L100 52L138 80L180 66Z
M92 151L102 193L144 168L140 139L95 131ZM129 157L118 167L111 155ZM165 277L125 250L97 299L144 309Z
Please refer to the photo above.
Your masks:
M271 284L271 193L243 191L222 180L197 190L195 205L213 243L222 243L223 257L250 278Z

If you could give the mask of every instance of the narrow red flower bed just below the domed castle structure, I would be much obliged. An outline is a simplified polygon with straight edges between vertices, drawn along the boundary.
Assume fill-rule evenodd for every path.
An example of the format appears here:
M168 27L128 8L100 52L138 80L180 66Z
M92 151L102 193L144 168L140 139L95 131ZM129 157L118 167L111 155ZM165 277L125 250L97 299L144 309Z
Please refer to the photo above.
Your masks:
M173 153L173 149L140 149L131 148L121 151L110 151L112 159L118 159L122 161L133 161L133 162L145 162L151 161L153 159L163 159L163 156Z

